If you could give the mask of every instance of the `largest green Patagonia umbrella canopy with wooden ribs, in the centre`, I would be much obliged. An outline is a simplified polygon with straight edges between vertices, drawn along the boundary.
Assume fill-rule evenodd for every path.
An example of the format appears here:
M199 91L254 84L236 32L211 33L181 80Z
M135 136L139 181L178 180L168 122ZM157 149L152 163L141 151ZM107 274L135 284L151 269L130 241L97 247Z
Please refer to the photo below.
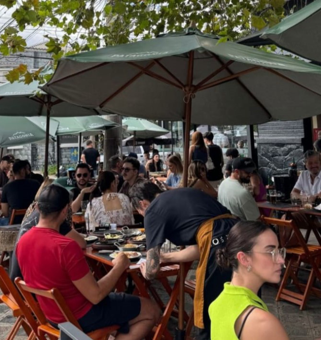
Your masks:
M108 76L107 76L108 75ZM320 113L321 68L196 29L60 60L43 89L124 116L253 124Z

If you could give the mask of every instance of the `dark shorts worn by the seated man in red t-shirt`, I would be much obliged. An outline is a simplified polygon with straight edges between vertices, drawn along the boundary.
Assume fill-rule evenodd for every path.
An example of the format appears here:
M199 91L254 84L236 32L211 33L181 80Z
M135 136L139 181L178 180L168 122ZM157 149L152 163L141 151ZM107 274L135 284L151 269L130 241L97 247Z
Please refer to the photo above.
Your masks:
M119 333L128 333L128 322L140 313L140 299L138 296L125 293L110 293L97 305L78 320L84 333L96 329L119 325Z

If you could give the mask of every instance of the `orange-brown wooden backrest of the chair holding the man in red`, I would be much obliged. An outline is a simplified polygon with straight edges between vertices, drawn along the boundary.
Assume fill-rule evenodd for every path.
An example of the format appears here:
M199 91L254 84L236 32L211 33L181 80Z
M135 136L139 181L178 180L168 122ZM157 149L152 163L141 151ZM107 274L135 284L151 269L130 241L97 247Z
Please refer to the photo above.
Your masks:
M74 315L71 313L69 307L66 304L66 301L64 297L61 295L60 291L56 288L50 289L50 290L43 290L43 289L35 289L31 288L26 285L24 281L21 280L21 278L17 277L15 280L15 283L20 290L21 294L27 301L28 305L30 308L33 310L34 315L36 316L37 320L39 321L40 324L47 324L47 319L43 313L43 311L40 309L38 306L38 303L35 301L34 296L39 295L46 297L48 299L52 299L58 308L60 309L61 313L64 315L67 321L72 323L74 326L76 326L79 329L82 329Z

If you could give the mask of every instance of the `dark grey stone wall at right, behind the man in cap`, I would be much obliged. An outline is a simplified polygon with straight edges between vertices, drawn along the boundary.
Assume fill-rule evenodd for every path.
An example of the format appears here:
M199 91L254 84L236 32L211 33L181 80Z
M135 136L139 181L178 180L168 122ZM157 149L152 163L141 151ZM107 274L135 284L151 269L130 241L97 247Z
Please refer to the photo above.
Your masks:
M293 158L298 170L304 170L303 137L303 120L273 121L258 126L258 167L265 184L268 176L287 173Z

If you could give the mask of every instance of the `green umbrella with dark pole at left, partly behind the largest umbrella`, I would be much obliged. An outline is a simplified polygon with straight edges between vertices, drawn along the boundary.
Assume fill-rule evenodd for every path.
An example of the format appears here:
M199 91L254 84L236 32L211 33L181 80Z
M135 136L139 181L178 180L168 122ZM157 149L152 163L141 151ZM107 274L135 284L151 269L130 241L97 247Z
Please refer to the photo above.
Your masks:
M51 74L53 68L47 65L41 74ZM50 117L74 117L98 115L96 109L86 109L69 102L64 102L39 89L39 83L34 81L29 85L23 82L4 83L0 85L0 116L44 116L46 120L45 170L48 174L48 149L50 135Z

